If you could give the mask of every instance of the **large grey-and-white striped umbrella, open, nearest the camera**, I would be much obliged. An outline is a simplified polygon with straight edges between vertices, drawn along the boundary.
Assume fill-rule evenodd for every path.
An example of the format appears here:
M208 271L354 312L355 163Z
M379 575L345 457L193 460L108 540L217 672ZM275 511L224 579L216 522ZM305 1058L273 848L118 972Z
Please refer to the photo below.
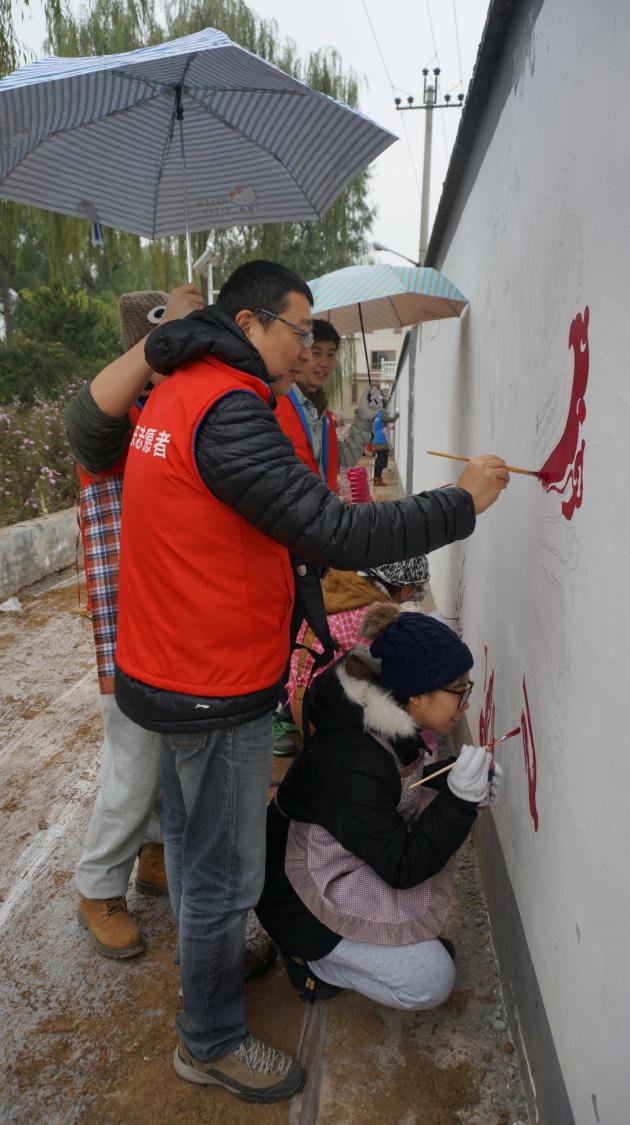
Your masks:
M0 196L186 232L189 272L191 231L321 218L395 140L214 28L0 81Z

